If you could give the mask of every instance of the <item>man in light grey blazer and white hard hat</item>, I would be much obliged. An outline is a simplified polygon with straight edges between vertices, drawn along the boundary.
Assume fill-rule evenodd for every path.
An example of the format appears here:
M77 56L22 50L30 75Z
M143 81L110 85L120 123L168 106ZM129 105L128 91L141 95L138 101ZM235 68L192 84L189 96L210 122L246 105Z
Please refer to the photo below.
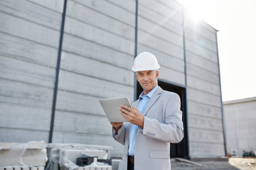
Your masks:
M143 92L133 108L119 108L129 122L111 122L113 137L125 145L128 170L170 170L170 143L179 143L184 136L179 95L157 85L158 68L153 54L137 55L132 70Z

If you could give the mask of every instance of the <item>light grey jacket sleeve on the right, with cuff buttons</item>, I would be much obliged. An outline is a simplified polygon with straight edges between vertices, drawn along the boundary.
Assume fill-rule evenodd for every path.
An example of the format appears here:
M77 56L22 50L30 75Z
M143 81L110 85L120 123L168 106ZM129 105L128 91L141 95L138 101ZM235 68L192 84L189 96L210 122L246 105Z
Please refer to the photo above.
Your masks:
M145 116L143 129L139 127L138 133L169 143L179 143L184 133L180 98L176 93L167 102L164 115L164 123Z

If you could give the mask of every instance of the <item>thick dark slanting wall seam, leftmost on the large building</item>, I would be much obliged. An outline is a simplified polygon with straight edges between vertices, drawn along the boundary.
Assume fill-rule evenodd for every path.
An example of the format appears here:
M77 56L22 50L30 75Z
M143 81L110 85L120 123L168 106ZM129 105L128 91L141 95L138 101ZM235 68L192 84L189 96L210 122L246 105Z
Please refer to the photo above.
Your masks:
M64 7L63 7L63 13L62 13L62 20L61 20L61 31L60 31L60 37L59 37L58 60L57 60L56 77L55 77L55 85L54 85L54 96L53 96L52 109L51 109L49 143L52 142L52 135L53 135L53 129L54 129L54 117L55 117L56 98L57 98L57 91L58 91L59 67L60 67L60 60L61 60L61 50L62 50L62 41L63 41L63 34L64 34L66 8L67 8L67 0L64 0Z

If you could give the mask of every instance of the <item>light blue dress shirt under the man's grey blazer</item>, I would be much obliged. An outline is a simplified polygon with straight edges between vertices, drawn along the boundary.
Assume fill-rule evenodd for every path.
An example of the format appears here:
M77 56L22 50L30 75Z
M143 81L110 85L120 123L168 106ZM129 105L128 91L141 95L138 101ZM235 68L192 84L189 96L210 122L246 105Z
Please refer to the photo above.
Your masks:
M156 92L158 87L159 86L156 85L156 87L153 90L151 90L151 92L149 92L147 95L144 95L144 91L141 93L141 95L139 97L139 104L137 107L137 109L140 110L141 113L144 112L149 100L151 99L154 92ZM129 137L129 148L128 148L128 155L130 155L130 156L134 156L134 138L135 138L137 128L138 128L138 125L131 124L130 137Z

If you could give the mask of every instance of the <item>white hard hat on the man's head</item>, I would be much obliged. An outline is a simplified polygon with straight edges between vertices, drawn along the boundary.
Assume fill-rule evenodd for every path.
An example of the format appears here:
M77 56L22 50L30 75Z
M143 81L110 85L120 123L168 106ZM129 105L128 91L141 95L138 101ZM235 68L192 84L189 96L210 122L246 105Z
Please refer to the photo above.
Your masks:
M156 70L159 69L160 65L158 64L156 57L150 52L141 52L137 55L133 62L133 71L145 71L145 70Z

